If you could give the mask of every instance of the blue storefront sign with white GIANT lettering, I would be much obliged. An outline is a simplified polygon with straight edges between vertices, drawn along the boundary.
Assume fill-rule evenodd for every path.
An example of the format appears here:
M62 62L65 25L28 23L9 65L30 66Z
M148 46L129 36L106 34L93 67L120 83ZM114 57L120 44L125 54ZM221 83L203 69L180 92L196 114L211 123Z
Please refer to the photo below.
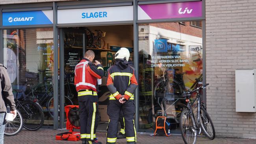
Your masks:
M52 10L5 12L3 26L53 24Z

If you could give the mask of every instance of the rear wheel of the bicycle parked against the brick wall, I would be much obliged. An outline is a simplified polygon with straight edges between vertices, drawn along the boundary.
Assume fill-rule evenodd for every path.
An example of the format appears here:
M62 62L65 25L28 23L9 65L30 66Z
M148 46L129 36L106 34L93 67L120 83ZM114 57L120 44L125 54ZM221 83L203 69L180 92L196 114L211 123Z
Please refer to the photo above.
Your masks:
M215 129L209 114L203 107L200 108L200 125L206 136L213 140L215 138Z

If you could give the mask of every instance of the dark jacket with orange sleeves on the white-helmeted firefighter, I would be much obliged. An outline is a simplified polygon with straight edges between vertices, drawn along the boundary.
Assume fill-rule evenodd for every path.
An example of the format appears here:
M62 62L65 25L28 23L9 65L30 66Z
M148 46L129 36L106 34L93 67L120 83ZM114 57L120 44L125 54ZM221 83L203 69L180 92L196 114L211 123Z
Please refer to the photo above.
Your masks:
M137 88L136 72L126 60L116 59L115 65L108 69L107 87L111 95L119 100L122 95L126 100L134 100L133 94Z

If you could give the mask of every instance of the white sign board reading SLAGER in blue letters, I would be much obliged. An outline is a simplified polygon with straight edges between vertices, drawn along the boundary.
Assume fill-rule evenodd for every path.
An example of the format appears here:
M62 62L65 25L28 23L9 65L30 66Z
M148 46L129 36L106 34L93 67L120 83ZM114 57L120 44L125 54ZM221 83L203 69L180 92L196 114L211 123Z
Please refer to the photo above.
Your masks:
M133 20L133 6L58 10L58 24Z

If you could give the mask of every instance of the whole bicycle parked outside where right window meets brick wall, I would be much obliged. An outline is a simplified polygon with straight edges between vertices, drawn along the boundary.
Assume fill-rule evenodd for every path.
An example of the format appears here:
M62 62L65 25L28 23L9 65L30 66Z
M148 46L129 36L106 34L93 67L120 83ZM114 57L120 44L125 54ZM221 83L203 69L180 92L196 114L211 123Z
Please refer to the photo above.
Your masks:
M195 144L197 130L199 130L198 134L200 135L201 129L203 129L206 136L211 140L215 138L215 129L212 120L204 107L204 102L201 102L201 94L199 92L199 90L206 89L207 85L209 84L189 90L182 95L182 97L186 98L187 102L186 109L180 114L180 131L185 144ZM190 98L193 92L196 92L197 96L191 102ZM197 111L194 113L193 105L196 104L195 102L197 102Z

